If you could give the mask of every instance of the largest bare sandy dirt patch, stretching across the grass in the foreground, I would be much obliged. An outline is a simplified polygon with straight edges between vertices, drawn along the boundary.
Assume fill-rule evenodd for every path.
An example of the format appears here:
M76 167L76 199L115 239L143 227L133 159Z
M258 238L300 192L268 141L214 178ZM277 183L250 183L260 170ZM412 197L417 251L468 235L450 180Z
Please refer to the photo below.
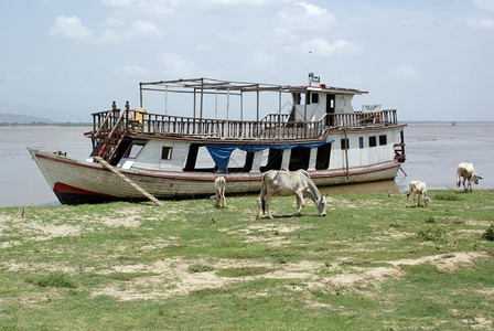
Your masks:
M302 280L302 288L292 290L302 290L303 287L318 289L326 292L334 292L340 287L354 287L366 285L378 285L391 278L399 278L405 275L400 266L419 265L431 263L440 270L454 271L460 267L472 267L473 259L486 257L485 253L457 253L448 255L427 256L418 259L399 259L386 261L391 267L361 268L354 267L352 273L343 273L334 276L321 276L321 270L335 270L341 263L325 266L315 261L299 261L296 264L271 265L253 260L230 260L218 259L214 261L194 261L202 263L213 267L213 271L191 273L189 267L191 263L180 258L171 258L155 261L152 265L120 265L111 269L101 271L101 274L111 273L152 273L157 276L138 277L132 281L112 284L106 288L96 290L92 297L110 296L121 301L136 299L159 299L170 296L185 296L191 291L202 289L224 288L241 281L250 281L260 278L271 279L299 279ZM224 268L241 267L268 267L272 269L264 275L247 277L221 277L216 270ZM304 285L303 285L304 284Z

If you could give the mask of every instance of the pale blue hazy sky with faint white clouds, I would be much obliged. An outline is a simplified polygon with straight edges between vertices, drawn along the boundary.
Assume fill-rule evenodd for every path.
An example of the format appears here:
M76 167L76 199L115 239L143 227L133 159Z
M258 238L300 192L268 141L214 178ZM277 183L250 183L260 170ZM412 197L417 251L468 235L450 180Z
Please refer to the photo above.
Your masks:
M137 107L139 82L304 85L309 67L368 90L355 109L492 121L494 0L0 1L0 103L52 119Z

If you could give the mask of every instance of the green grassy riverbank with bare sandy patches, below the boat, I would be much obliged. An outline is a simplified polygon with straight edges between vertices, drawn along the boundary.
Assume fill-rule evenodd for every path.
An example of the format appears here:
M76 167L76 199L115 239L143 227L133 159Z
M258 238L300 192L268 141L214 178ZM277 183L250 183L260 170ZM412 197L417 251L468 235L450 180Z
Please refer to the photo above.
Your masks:
M430 196L0 209L0 329L492 329L494 190Z

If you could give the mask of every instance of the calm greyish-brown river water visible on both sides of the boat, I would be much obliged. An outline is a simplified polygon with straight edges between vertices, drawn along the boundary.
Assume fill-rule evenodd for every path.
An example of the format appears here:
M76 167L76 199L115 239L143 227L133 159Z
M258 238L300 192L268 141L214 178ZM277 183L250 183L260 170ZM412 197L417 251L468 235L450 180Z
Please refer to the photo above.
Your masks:
M89 127L0 127L0 206L57 205L55 194L32 160L28 147L61 150L71 158L85 159L90 140ZM394 181L331 186L339 193L402 193L411 180L421 180L429 190L453 190L457 166L473 162L484 179L474 190L494 189L494 122L412 122L405 128L407 161Z

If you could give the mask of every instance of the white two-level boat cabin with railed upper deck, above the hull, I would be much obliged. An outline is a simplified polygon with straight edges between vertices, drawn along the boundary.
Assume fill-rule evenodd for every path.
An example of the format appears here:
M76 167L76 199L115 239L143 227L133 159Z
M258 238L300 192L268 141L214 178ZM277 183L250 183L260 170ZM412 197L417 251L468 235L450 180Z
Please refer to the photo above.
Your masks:
M164 93L164 114L147 110L144 92ZM261 117L261 93L278 95L278 113ZM93 156L136 171L324 170L348 168L353 160L385 162L389 154L391 159L395 153L404 156L405 151L393 145L395 130L388 130L401 129L397 126L396 110L354 111L353 96L366 93L324 84L281 86L206 78L140 83L139 107L131 109L127 103L121 110L114 102L111 110L93 114L94 130L87 136L93 140ZM193 97L191 117L168 114L169 97L173 94ZM244 119L247 94L256 96L255 109L253 105L249 108L250 113L255 110L256 120ZM282 95L291 97L288 114L282 113ZM216 110L218 97L226 98L226 118L205 117L205 100L213 99ZM237 107L240 119L230 118L233 97L240 100ZM383 129L388 131L379 132ZM376 147L382 151L377 152Z

